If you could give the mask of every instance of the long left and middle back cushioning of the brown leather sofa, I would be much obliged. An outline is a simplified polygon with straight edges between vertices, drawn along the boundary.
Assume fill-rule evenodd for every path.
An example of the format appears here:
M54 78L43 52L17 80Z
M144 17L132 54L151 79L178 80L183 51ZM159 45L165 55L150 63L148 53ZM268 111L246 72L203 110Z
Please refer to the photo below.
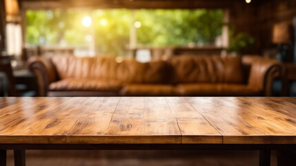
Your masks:
M118 61L116 57L55 56L52 63L60 79L92 78L123 83L160 84L164 82L164 61L141 63L135 59Z

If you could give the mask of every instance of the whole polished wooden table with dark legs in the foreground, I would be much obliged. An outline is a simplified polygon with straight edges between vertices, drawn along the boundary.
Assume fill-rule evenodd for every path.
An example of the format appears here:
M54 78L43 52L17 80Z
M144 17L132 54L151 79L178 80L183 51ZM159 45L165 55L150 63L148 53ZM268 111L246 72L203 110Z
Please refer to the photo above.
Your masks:
M296 149L296 98L0 98L0 165L14 149Z

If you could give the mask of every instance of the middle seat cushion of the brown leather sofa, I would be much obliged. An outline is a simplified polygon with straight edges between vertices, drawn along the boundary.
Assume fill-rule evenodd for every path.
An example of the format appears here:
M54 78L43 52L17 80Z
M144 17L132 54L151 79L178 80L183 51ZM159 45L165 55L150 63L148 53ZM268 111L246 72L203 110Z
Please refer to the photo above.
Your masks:
M173 96L175 87L166 84L127 84L120 91L125 96Z

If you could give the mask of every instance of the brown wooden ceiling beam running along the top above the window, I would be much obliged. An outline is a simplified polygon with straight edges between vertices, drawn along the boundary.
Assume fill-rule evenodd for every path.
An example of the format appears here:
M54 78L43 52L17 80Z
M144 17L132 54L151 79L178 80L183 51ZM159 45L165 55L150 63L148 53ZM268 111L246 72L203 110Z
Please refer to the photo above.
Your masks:
M231 8L244 0L21 0L24 9L54 8ZM248 5L248 4L246 4Z

